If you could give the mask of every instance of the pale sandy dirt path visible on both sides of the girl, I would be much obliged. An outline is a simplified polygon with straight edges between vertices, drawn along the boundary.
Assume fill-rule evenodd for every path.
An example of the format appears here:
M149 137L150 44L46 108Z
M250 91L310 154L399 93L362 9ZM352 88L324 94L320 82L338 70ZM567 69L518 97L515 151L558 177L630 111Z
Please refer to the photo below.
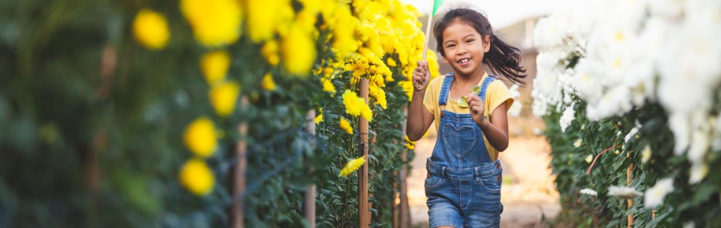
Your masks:
M425 158L433 152L435 135L417 142L413 170L408 181L408 201L415 227L428 227L423 181ZM500 155L503 164L501 227L543 227L541 214L554 218L560 211L549 163L550 147L541 136L511 137Z

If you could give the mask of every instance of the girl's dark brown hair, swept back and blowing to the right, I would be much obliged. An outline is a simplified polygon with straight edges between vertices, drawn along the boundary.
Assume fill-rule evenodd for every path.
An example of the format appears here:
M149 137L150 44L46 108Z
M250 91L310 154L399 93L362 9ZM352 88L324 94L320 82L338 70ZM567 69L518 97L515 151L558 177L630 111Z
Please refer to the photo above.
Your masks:
M476 29L481 37L486 35L490 37L490 50L484 55L483 63L488 65L492 73L503 75L514 83L525 84L521 81L526 78L526 75L523 74L526 73L526 69L521 67L521 50L498 39L493 34L488 19L474 9L467 7L451 9L433 25L433 36L437 42L435 48L443 57L446 57L446 53L443 52L443 31L456 19Z

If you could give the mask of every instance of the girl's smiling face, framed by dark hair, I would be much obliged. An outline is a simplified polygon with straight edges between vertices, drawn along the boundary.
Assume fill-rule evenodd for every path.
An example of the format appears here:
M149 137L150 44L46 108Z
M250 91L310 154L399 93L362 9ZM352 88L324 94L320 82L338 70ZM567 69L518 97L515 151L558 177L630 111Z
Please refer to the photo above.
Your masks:
M488 52L490 37L482 37L476 29L459 19L443 30L443 60L464 76L481 74L483 55Z

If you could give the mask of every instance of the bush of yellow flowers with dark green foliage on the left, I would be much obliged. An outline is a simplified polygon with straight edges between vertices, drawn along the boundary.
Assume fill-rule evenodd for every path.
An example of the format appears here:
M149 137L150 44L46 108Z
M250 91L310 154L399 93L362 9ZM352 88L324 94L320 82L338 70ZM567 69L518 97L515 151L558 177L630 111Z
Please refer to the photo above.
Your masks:
M423 53L412 6L24 1L0 13L0 226L224 227L243 199L245 224L301 227L315 184L318 226L355 227L360 117L372 224L392 222ZM247 188L234 195L240 140Z

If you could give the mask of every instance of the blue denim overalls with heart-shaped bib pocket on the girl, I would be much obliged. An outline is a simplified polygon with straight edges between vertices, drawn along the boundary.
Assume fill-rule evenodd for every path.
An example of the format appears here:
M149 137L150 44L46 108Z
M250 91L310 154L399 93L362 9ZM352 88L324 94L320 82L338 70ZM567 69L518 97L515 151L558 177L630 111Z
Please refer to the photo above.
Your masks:
M454 76L443 79L438 106L441 124L433 148L426 160L425 196L428 197L430 227L499 227L500 161L491 161L483 132L471 114L445 110ZM485 101L486 89L495 80L487 76L479 97Z

